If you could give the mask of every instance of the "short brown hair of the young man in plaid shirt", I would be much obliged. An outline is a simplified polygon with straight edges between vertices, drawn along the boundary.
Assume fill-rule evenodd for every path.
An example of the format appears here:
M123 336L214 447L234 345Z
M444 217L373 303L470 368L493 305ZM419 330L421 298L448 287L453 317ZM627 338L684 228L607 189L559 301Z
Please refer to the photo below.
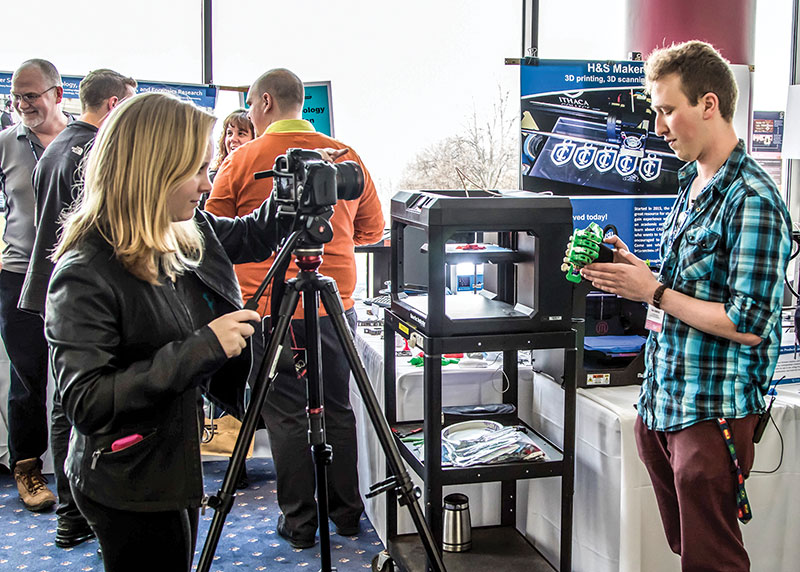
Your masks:
M711 44L692 40L653 50L644 64L644 73L648 91L653 82L677 74L681 89L692 105L697 105L707 93L716 94L720 115L728 122L733 121L739 97L736 79L730 62Z

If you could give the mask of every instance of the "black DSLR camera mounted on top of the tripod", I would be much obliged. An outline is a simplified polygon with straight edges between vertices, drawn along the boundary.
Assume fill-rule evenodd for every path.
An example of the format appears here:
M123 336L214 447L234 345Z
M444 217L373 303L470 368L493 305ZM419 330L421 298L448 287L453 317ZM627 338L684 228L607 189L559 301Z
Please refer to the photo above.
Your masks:
M358 163L329 163L310 149L289 149L275 159L271 171L256 174L256 178L270 176L279 212L316 213L364 192L364 172Z

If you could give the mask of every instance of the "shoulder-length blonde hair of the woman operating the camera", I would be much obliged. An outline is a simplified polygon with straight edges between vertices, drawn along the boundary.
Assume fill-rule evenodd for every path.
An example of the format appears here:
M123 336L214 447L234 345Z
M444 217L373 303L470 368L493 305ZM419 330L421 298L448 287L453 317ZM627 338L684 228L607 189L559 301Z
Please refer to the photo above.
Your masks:
M97 230L134 276L158 284L194 268L203 239L193 220L173 222L167 199L205 160L214 117L166 93L118 105L89 152L84 191L64 221L54 260Z

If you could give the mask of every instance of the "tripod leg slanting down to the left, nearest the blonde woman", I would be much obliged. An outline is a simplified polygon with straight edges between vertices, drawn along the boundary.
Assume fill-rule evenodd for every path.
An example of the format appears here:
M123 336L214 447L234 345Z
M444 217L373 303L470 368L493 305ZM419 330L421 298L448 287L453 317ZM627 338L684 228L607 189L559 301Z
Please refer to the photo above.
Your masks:
M216 496L208 499L208 506L213 508L215 512L208 529L206 542L203 545L203 552L200 554L200 560L197 564L198 572L208 572L210 570L214 553L219 544L219 538L222 535L222 527L225 525L225 518L233 506L233 498L236 495L236 481L239 478L242 467L244 467L247 450L255 434L258 418L267 397L267 391L276 374L278 356L282 350L283 340L286 339L286 334L289 332L292 316L300 299L300 294L293 286L294 283L290 280L286 295L281 301L278 322L273 329L267 351L258 369L250 406L247 408L242 420L242 428L239 431L239 437L236 439L236 445L233 447L231 462L225 472L225 478L222 480L222 487Z

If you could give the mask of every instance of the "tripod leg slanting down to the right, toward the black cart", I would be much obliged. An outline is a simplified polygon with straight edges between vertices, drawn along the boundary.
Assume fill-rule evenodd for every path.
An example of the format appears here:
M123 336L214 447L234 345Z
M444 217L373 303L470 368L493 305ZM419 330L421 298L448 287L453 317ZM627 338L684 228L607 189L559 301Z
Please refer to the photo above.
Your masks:
M361 393L361 398L364 401L372 426L378 434L378 440L386 455L389 467L397 480L396 490L400 504L408 507L411 519L414 521L422 545L428 555L429 566L436 572L444 571L445 567L442 556L439 553L430 528L428 528L428 524L423 517L422 509L419 506L414 486L411 482L411 477L405 469L403 458L400 456L400 451L397 449L397 444L394 441L389 424L381 412L378 398L372 390L367 371L364 369L364 365L358 357L358 350L356 350L353 336L350 329L347 327L347 322L344 317L344 306L339 296L336 282L331 278L320 277L319 283L321 284L319 292L322 297L322 304L333 322L336 336L347 356L347 361L350 363L350 369L353 372L353 377L356 380L356 385L358 385L358 390Z

